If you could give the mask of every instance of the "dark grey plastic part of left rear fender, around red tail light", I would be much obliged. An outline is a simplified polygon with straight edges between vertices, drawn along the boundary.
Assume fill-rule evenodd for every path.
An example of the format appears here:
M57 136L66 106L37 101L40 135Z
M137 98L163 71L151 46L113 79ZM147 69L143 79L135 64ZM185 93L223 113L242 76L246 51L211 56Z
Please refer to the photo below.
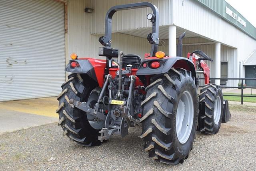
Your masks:
M77 62L79 64L79 66L72 68L70 66L70 63L72 61ZM98 80L96 78L95 71L94 71L94 67L92 66L92 64L90 63L89 60L70 60L68 65L65 68L65 71L71 72L71 73L76 73L76 74L86 74L90 78L92 78L94 81L98 82Z

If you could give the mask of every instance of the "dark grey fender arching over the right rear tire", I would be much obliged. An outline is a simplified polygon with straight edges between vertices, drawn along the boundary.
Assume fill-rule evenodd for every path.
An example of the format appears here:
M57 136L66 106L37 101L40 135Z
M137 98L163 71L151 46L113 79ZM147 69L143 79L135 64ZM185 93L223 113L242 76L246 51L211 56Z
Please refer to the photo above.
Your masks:
M156 69L149 68L148 64L152 61L159 61L161 66ZM187 66L184 66L184 69L189 67L192 77L195 77L195 84L197 85L195 66L191 60L184 58L184 57L170 57L170 58L165 58L165 59L159 59L159 58L154 58L154 59L148 58L147 59L147 58L145 58L143 60L142 64L140 64L138 71L136 73L136 76L138 76L138 78L140 78L140 80L145 84L145 82L146 82L145 76L164 74L164 73L168 72L174 66L174 64L176 64L178 62L183 62L183 63L186 62ZM144 63L147 63L146 68L142 67L142 65ZM183 68L183 67L179 66L177 68Z

